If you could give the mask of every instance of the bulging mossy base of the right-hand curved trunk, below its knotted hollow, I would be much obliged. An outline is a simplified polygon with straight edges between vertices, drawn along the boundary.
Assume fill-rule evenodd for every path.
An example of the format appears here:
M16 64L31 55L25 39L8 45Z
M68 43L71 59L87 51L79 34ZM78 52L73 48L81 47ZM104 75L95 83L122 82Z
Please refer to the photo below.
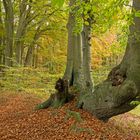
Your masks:
M101 120L128 112L136 107L130 104L137 97L134 82L125 80L121 85L112 85L112 81L105 81L95 88L93 94L85 95L79 102L79 107Z

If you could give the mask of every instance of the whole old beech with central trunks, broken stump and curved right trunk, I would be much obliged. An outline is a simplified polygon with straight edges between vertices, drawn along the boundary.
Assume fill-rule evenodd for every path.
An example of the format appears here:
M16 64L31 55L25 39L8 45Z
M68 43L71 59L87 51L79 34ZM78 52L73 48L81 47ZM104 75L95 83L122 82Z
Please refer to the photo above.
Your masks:
M88 0L85 0L88 3ZM75 2L70 1L70 7ZM140 10L139 0L133 0L133 8ZM121 63L113 68L107 79L94 87L90 75L90 34L94 22L90 15L88 25L83 24L82 31L74 34L76 24L74 7L68 19L68 55L64 77L56 82L56 94L46 102L37 106L38 109L49 106L62 106L73 99L69 86L77 88L77 107L84 109L101 120L132 110L136 105L130 104L140 95L140 17L134 17L130 26L127 48ZM85 20L84 15L81 15Z

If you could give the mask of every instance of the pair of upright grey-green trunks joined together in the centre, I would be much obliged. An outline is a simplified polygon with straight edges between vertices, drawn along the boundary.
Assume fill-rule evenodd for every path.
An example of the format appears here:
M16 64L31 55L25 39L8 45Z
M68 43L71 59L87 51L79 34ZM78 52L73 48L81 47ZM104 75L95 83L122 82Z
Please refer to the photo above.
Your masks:
M76 4L76 1L70 1L70 7ZM67 79L70 86L76 87L78 90L86 92L92 91L93 83L90 74L90 34L91 24L84 25L83 31L74 33L76 26L76 11L78 6L72 8L68 19L68 50L67 50L67 66L64 79ZM83 18L82 13L78 18ZM89 90L90 89L90 90Z

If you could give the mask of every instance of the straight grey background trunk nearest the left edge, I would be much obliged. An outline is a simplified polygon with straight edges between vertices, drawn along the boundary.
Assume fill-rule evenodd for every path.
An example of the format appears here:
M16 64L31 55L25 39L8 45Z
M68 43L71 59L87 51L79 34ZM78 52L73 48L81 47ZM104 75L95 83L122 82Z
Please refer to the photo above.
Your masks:
M3 5L5 9L5 30L6 30L5 65L12 66L13 36L14 36L13 3L11 0L3 0Z

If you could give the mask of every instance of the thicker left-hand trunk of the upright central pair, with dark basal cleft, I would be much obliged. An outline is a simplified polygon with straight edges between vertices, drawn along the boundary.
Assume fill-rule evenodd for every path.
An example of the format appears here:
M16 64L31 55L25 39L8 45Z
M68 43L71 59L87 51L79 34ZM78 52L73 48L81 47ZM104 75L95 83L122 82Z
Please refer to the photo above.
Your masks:
M70 1L70 8L76 4L76 1ZM84 90L85 80L83 76L83 50L82 35L74 33L76 26L76 11L79 7L72 8L69 12L67 24L68 29L68 49L67 49L67 65L63 78L69 81L69 85L78 90ZM81 13L82 14L82 13ZM82 17L81 17L82 18Z

